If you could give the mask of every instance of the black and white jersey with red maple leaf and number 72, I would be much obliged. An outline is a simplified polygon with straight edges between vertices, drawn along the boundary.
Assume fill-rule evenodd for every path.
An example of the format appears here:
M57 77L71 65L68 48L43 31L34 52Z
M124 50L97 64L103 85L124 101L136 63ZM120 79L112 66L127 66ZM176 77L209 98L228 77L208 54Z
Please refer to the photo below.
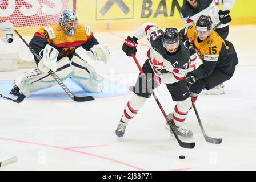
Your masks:
M151 48L147 51L150 65L156 75L170 73L169 83L178 82L185 77L186 73L194 69L195 61L191 62L189 50L180 42L175 53L169 53L163 47L162 30L153 23L145 23L138 28L134 36L138 39L147 35Z

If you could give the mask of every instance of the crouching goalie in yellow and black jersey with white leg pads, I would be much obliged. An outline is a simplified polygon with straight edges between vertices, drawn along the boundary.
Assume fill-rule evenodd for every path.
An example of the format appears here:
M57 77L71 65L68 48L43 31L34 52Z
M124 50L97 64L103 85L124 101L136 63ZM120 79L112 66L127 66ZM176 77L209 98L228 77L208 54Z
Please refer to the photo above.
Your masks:
M75 49L82 47L90 52L92 59L104 63L110 58L109 50L97 41L88 26L78 23L77 16L72 11L64 11L59 18L59 24L40 28L31 39L30 47L42 59L38 60L35 57L38 69L26 72L15 79L12 94L23 94L29 97L32 92L57 85L50 75L51 71L55 71L61 80L71 78L86 92L102 91L104 78L98 75L85 60L82 60L75 53ZM55 56L57 63L52 69L43 61L49 56L47 47L53 47L58 52Z

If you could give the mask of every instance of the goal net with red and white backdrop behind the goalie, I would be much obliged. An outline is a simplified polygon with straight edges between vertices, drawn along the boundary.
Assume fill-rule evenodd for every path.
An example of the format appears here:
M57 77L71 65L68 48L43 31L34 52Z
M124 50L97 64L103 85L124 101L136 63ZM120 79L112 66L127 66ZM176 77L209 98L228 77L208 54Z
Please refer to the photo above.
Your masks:
M64 10L76 12L76 5L77 0L1 0L0 23L9 20L23 38L30 42L39 28L58 24ZM18 52L18 68L36 68L33 54L18 36L15 36L11 44L1 42L0 47L4 47L4 53Z

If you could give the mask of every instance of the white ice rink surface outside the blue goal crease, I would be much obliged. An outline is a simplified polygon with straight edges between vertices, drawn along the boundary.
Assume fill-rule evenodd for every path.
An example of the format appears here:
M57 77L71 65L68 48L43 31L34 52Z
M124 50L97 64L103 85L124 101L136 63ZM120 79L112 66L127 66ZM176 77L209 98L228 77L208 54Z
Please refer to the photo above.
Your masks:
M154 98L129 123L123 138L115 129L131 95L71 100L0 100L0 161L18 156L17 163L0 170L255 170L256 169L256 26L230 27L230 40L239 64L225 82L225 95L199 96L196 106L206 133L223 138L222 144L203 139L194 111L185 127L194 132L195 148L181 148L165 129L165 118ZM123 37L133 32L95 33L109 44L111 60L91 63L108 79L133 85L138 69L122 52ZM146 39L140 41L147 44ZM2 45L1 45L2 46ZM2 49L3 47L1 47ZM148 47L139 44L141 65ZM0 72L13 80L25 70ZM166 113L175 102L166 87L156 90ZM185 155L186 159L179 159Z

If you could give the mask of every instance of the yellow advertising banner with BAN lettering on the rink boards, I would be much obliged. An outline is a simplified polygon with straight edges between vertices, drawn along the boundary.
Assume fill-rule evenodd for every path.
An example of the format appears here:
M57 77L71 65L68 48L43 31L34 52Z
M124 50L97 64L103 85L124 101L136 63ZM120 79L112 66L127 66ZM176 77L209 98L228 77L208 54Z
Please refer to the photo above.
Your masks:
M179 12L186 0L77 0L79 22L93 31L136 30L152 22L159 28L183 27ZM230 24L256 24L254 0L238 0ZM221 6L220 6L221 9Z

